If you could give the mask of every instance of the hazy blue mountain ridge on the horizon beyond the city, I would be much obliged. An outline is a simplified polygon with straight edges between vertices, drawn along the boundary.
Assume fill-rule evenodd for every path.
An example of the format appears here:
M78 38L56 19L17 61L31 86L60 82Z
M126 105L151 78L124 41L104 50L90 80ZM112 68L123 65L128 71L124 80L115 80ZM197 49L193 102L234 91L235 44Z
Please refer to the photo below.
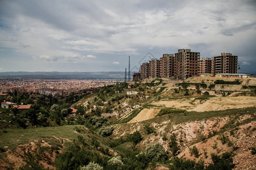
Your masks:
M124 79L122 71L99 72L59 72L59 71L11 71L0 73L0 78L31 78L31 79Z

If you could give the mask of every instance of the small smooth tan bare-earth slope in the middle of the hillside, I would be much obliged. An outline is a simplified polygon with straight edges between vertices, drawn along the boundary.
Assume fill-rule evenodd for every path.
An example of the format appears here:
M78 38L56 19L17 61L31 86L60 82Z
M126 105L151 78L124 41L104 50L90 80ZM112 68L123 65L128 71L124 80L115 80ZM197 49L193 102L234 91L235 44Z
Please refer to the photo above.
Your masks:
M156 114L158 114L160 109L143 109L137 116L135 116L132 120L128 122L128 124L132 124L135 122L141 122L145 120L149 120L154 118Z

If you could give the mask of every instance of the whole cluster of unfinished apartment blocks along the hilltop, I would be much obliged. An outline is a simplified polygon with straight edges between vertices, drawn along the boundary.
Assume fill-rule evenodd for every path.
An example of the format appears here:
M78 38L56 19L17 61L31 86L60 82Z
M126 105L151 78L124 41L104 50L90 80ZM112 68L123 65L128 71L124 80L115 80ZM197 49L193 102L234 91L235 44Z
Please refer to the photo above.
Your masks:
M207 74L214 76L246 76L238 74L238 56L221 53L220 56L200 59L200 52L191 49L179 49L175 54L163 54L160 59L152 59L141 65L141 73L136 78L174 78L187 79L192 76ZM136 79L135 78L135 79Z

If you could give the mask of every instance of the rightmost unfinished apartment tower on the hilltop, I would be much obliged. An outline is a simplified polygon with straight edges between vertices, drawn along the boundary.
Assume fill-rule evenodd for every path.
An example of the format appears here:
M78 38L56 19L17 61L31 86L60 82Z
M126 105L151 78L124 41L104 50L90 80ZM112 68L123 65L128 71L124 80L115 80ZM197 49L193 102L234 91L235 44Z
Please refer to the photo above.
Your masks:
M236 74L237 59L232 53L221 53L221 56L212 57L212 74Z

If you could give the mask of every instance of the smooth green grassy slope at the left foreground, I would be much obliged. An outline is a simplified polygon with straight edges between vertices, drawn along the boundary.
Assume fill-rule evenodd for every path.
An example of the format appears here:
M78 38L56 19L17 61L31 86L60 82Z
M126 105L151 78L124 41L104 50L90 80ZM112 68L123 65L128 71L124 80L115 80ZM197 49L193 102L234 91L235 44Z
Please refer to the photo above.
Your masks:
M13 150L18 145L39 141L40 139L49 142L49 144L56 143L56 139L53 136L72 141L77 138L77 133L74 130L75 126L84 127L81 125L67 125L46 128L7 129L6 133L0 135L0 147L7 146L10 150Z

